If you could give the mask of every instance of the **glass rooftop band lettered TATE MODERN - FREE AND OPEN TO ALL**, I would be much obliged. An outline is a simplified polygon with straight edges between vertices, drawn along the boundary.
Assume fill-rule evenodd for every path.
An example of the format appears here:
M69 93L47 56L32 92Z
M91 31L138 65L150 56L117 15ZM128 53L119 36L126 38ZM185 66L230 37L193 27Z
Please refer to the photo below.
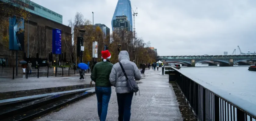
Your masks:
M0 0L2 2L8 2L12 4L13 6L25 9L26 11L29 11L31 13L34 13L36 15L39 15L41 17L50 19L52 21L58 22L62 24L62 15L59 15L58 13L51 11L47 8L44 8L41 5L38 5L30 0L18 0L16 2L11 2L12 0Z

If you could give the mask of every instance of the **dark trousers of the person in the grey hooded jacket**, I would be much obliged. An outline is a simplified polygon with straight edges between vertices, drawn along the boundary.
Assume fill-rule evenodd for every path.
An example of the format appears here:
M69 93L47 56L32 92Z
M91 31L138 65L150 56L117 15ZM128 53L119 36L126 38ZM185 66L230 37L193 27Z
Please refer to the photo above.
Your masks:
M116 93L118 121L130 121L133 93Z

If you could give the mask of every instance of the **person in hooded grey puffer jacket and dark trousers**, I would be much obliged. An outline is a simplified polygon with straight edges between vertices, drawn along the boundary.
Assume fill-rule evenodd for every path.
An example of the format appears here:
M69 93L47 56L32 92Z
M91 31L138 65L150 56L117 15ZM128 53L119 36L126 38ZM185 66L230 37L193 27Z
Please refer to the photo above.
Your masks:
M127 51L120 51L118 60L123 65L128 78L140 80L140 70L135 63L130 61ZM114 64L112 67L109 75L109 81L114 87L116 87L119 114L118 121L130 121L133 92L128 91L126 77L124 76L119 63Z

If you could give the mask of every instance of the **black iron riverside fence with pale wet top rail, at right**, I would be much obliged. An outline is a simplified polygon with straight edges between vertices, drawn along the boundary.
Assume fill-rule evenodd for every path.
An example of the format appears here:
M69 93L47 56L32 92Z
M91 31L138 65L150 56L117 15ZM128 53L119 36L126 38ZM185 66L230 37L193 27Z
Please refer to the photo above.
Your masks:
M198 79L191 79L172 68L174 77L191 109L200 121L255 121L256 105L232 96Z

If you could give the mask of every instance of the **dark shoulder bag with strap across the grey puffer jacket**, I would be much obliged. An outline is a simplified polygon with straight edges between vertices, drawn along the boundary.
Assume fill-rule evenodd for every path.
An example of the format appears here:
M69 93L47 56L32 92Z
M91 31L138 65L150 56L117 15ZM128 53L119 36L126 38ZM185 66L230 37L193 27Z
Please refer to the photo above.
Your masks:
M125 73L125 70L124 70L123 65L121 64L121 62L119 62L119 64L120 64L120 67L123 70L124 76L126 77L128 91L129 92L134 92L135 95L137 95L137 92L139 91L139 95L140 95L140 90L139 90L139 87L138 87L136 81L134 79L129 79L127 77L126 73Z

